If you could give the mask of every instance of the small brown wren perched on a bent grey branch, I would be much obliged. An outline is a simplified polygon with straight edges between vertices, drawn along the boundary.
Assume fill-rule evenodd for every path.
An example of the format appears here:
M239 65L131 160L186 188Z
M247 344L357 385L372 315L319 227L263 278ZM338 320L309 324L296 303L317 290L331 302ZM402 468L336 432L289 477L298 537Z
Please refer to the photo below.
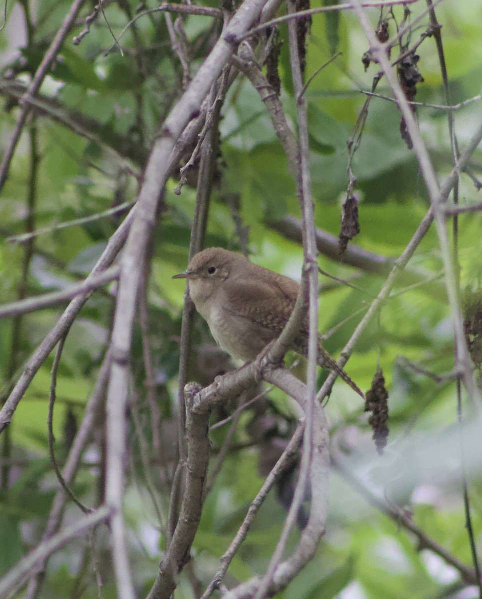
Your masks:
M281 334L296 302L299 284L282 274L253 264L240 253L208 247L192 257L184 273L189 295L213 337L233 358L249 362ZM306 356L308 319L293 341ZM318 342L318 365L333 370L360 397L362 391Z

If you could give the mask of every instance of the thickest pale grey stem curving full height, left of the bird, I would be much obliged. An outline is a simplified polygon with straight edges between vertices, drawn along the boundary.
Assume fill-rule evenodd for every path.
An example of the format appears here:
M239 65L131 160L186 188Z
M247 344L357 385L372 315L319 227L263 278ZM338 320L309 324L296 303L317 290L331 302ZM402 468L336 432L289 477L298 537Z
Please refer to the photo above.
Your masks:
M123 452L125 450L125 409L126 389L129 383L129 358L132 346L132 334L136 302L140 283L140 268L146 259L147 244L153 225L157 220L157 208L161 192L168 177L169 156L183 129L198 114L199 107L210 87L219 77L227 64L233 47L230 40L248 31L260 16L265 0L245 0L227 25L224 35L201 64L192 78L188 89L171 110L161 135L156 139L149 161L146 165L143 184L135 206L134 222L122 255L119 280L118 302L112 332L112 368L107 399L107 482L106 501L115 509L111 518L113 564L116 588L120 599L132 599L135 596L130 564L126 551L123 503ZM179 523L181 519L179 519ZM185 523L183 523L184 525ZM173 555L179 550L177 527L168 548L166 576L173 575L171 564ZM180 534L180 533L179 533ZM172 591L172 582L162 584ZM155 588L157 588L155 586ZM153 591L154 592L154 591Z

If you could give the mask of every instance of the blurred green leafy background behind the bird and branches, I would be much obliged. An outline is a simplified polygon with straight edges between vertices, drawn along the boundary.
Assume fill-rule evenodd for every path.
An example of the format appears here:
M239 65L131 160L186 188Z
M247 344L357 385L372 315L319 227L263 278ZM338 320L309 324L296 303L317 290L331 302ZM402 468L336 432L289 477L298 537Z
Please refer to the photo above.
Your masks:
M152 3L151 3L152 4ZM204 2L215 7L214 2ZM315 0L313 6L320 5ZM28 84L46 48L58 31L70 4L43 0L30 5L10 2L7 25L0 34L2 59L0 93L1 149L5 150L18 115L19 86ZM149 5L147 8L154 8ZM411 5L413 17L425 8ZM106 16L115 35L135 15L135 2L106 5ZM85 7L82 18L89 14ZM26 18L26 14L28 17ZM401 9L394 14L401 19ZM481 92L482 4L447 0L436 8L442 24L445 59L452 104ZM412 17L412 18L413 18ZM370 13L373 27L378 12ZM173 17L174 19L174 17ZM427 17L421 23L426 24ZM195 72L217 34L209 17L183 17ZM31 113L0 196L0 302L65 288L85 278L115 232L123 216L104 217L83 225L51 230L20 244L11 237L34 229L52 228L100 213L122 202L134 202L149 148L159 125L182 93L182 66L171 47L165 17L151 13L138 19L120 38L123 56L113 44L100 16L79 46L72 39L83 24L68 36L53 68L41 87L46 111ZM390 22L391 34L394 22ZM423 31L420 29L420 32ZM287 40L285 25L281 38ZM412 43L419 31L412 33ZM360 90L369 90L376 72L363 71L361 57L367 50L363 34L348 11L314 16L308 43L306 75L311 75L335 51L342 52L314 78L306 92L309 105L312 189L316 225L338 235L340 204L347 189L347 140L364 102ZM395 50L394 50L395 52ZM433 40L417 49L418 69L424 82L417 86L417 101L445 105L439 62ZM394 58L394 57L392 57ZM281 49L281 99L291 122L296 107L288 62L287 44ZM390 96L384 80L377 93ZM480 99L454 113L460 146L469 139L480 119ZM384 99L370 103L360 146L352 168L360 195L360 234L354 243L370 252L397 258L429 208L414 153L399 133L397 106ZM418 122L439 180L452 166L447 117L444 110L418 109ZM287 161L257 92L245 78L238 78L228 92L220 123L220 155L212 194L206 245L239 249L248 242L251 258L258 264L299 277L302 249L279 232L276 221L299 217L294 183ZM188 156L186 156L186 159ZM480 171L477 150L470 168ZM33 166L32 166L33 165ZM155 228L147 289L147 340L155 374L158 406L162 415L161 455L152 446L152 412L146 397L143 332L138 323L132 350L132 402L138 423L129 422L129 483L125 494L126 519L132 568L139 596L150 588L165 539L147 493L148 476L141 461L139 439L147 441L150 478L159 501L167 506L175 467L176 392L178 341L183 284L171 276L184 270L188 255L195 190L188 185L180 195L173 177L165 190L164 208ZM477 200L469 177L462 176L460 202ZM30 198L30 200L29 200ZM233 214L236 218L233 217ZM29 224L29 216L31 221ZM236 224L238 222L238 224ZM240 228L242 223L243 229ZM273 222L275 223L273 225ZM267 223L271 223L268 225ZM463 288L477 288L482 272L481 216L478 212L459 218L460 280ZM241 232L247 232L246 238ZM29 249L30 248L30 249ZM32 255L29 256L31 251ZM26 258L27 256L27 258ZM28 274L22 275L27 265ZM338 356L344 343L376 296L384 278L320 255L320 267L335 277L349 279L350 288L320 277L320 330L335 332L326 348ZM350 359L347 371L367 389L381 366L390 392L390 437L385 455L376 456L367 417L359 398L342 382L333 389L327 414L333 443L364 485L400 510L409 510L413 521L429 537L465 564L471 552L464 528L460 491L460 447L456 432L456 400L451 379L434 382L416 373L399 359L443 375L453 368L450 311L443 286L442 262L435 229L418 246L409 268L431 280L406 288L399 285L372 322ZM23 290L23 291L22 291ZM83 308L68 335L58 377L54 431L59 462L68 451L69 424L80 422L109 341L115 305L115 284L96 292ZM0 383L2 398L19 378L26 359L55 324L62 307L38 311L17 319L0 320ZM341 326L339 326L341 325ZM212 343L198 322L195 344ZM202 352L201 352L202 355ZM193 360L192 376L201 376ZM47 404L53 356L43 364L22 399L13 422L4 433L0 493L0 576L35 547L52 507L58 482L50 464L47 443ZM227 407L224 418L230 413ZM272 392L263 410L272 419L268 437L285 439L288 425L296 419L293 406L281 392ZM232 411L232 410L231 410ZM249 502L266 473L259 471L263 445L254 440L250 424L256 410L242 413L231 450L207 497L193 548L195 579L209 582L218 559L242 522ZM94 507L102 495L103 422L98 422L74 485L74 491ZM213 448L222 446L227 426L213 431ZM466 471L471 494L475 543L481 546L480 501L481 448L469 423L462 425ZM264 438L266 441L266 438ZM7 474L7 478L5 478ZM474 587L460 580L457 570L423 547L396 521L369 506L344 477L332 475L326 535L316 558L280 594L330 599L377 599L411 596L477 597ZM74 521L79 510L68 507L65 521ZM267 499L254 521L248 540L234 558L226 583L263 572L285 519L275 494ZM293 533L291 544L297 539ZM98 567L104 580L103 596L115 597L107 530L95 534ZM57 553L49 565L41 597L97 597L97 585L85 539L76 539ZM87 564L87 565L86 565ZM194 597L194 574L180 578L179 597ZM25 597L25 591L18 597Z

